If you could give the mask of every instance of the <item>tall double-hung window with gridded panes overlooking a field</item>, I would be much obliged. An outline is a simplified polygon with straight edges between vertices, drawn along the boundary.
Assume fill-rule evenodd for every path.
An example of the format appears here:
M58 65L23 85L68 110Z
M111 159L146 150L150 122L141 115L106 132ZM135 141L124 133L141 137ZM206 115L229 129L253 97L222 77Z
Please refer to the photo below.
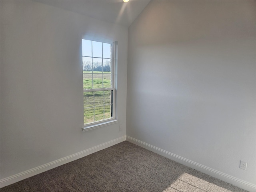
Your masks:
M82 39L84 127L114 119L114 42Z

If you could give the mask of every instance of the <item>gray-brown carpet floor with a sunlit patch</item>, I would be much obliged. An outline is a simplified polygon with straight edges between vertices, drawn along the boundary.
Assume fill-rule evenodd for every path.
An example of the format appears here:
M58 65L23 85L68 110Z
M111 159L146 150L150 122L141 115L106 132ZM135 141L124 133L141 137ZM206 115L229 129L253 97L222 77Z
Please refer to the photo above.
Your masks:
M246 192L124 141L1 192Z

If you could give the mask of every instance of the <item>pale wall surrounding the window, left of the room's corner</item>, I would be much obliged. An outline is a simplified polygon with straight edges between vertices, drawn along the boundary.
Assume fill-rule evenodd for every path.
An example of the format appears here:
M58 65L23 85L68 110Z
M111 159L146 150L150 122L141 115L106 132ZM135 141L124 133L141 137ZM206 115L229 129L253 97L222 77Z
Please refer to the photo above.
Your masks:
M75 3L75 2L74 2ZM118 41L118 124L82 132L82 36ZM126 134L127 27L1 1L1 179Z

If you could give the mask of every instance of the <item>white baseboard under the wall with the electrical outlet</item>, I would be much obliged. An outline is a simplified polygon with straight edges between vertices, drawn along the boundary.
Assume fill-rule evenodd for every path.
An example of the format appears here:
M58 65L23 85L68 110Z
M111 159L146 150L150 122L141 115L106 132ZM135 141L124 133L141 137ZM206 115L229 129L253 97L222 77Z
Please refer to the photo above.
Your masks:
M170 153L170 152L162 150L162 149L160 149L158 147L152 146L150 144L147 144L145 142L142 142L140 140L132 138L130 136L126 136L126 140L131 142L131 143L134 143L134 144L136 144L138 146L146 148L146 149L148 149L148 150L150 150L152 152L155 152L157 154L165 156L165 157L167 157L167 158L169 158L171 160L174 160L174 161L179 162L181 164L184 164L184 165L186 165L188 167L196 169L196 170L198 170L200 172L203 172L203 173L208 174L210 176L213 176L213 177L215 177L217 179L220 179L222 181L230 183L230 184L232 184L234 186L238 186L238 187L240 187L242 189L245 189L245 190L248 190L250 192L256 192L256 185L254 185L254 184L248 183L246 181L240 180L240 179L235 178L233 176L230 176L228 174L225 174L225 173L219 172L217 170L214 170L212 168L206 167L204 165L198 164L196 162L193 162L191 160L188 160L188 159L183 158L181 156L178 156L176 154Z

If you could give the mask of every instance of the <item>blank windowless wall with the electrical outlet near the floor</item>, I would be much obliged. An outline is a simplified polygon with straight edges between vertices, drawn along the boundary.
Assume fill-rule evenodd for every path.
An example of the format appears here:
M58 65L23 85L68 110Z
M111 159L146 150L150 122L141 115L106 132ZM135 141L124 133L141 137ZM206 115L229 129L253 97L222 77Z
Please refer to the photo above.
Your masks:
M126 135L255 186L255 121L256 2L151 1L128 28Z

